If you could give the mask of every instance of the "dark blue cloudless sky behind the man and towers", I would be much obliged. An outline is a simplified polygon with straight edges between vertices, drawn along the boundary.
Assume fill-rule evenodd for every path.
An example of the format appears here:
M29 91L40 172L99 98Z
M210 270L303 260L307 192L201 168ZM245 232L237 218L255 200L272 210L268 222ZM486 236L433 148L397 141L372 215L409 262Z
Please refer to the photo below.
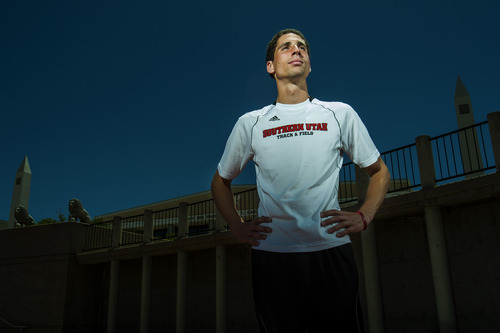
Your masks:
M282 28L311 44L310 94L351 104L381 151L456 129L457 75L486 120L499 16L497 1L2 1L0 219L26 154L37 221L73 197L95 216L208 190L234 122L274 101L264 54Z

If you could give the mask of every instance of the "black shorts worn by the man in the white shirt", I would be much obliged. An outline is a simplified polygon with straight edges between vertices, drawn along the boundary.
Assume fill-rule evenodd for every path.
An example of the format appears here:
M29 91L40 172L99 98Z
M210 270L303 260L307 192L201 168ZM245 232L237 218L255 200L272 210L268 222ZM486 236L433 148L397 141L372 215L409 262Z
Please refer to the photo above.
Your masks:
M351 244L318 252L252 250L260 332L363 332Z

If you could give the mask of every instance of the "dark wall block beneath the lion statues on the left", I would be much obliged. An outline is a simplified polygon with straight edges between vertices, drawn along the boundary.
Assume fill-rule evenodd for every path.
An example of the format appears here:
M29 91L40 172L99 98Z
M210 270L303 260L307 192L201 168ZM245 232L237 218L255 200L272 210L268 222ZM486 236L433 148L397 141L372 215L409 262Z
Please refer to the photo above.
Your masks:
M0 316L26 332L94 332L102 265L78 265L83 231L70 222L0 230Z

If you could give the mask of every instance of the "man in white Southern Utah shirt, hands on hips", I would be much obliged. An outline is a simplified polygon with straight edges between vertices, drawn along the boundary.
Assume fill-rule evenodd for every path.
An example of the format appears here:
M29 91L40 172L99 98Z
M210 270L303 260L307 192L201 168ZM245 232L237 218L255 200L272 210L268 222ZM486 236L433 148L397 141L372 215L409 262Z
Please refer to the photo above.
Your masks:
M261 332L360 332L358 275L349 234L366 229L390 176L354 110L311 98L309 44L294 29L268 44L272 105L236 123L212 180L218 210L236 238L251 244L254 300ZM370 175L356 213L337 199L343 152ZM231 181L255 163L259 216L244 222Z

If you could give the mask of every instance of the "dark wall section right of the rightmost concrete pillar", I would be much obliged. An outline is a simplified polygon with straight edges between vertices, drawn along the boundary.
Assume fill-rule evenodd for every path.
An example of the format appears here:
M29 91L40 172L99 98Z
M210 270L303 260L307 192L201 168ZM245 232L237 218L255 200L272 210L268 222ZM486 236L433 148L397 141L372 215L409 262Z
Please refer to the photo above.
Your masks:
M492 199L450 207L445 214L456 311L463 332L500 330L499 204Z

